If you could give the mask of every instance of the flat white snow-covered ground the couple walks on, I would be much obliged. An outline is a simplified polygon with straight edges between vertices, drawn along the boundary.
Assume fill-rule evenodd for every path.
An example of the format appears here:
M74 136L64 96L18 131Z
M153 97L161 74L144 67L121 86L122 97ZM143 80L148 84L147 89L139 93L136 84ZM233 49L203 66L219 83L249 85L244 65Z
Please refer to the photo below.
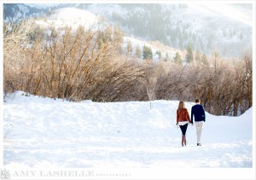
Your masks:
M253 110L207 113L202 146L175 125L177 101L62 102L17 91L3 103L6 168L194 168L253 166ZM193 106L186 102L186 107Z

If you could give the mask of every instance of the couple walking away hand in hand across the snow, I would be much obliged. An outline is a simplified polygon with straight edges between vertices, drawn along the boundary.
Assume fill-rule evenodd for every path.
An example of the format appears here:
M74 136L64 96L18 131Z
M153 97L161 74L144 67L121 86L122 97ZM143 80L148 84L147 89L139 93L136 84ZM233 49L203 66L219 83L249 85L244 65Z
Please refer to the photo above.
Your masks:
M188 109L185 108L184 102L179 102L177 108L177 124L179 125L182 131L182 146L187 145L186 141L186 131L188 125L194 125L193 118L195 118L195 129L197 136L197 146L201 146L201 131L204 126L204 122L206 121L206 114L204 107L201 106L200 100L195 99L195 105L191 108L191 120L189 119Z

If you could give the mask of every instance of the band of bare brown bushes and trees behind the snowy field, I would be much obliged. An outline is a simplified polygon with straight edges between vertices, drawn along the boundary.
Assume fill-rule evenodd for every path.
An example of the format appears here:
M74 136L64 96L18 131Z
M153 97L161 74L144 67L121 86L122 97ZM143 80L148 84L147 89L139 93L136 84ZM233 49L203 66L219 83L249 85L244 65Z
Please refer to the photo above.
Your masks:
M232 60L216 50L207 64L196 58L185 64L154 62L150 55L139 60L122 53L117 27L36 30L34 20L4 24L4 94L24 90L73 102L193 102L199 97L207 112L235 116L253 105L250 50Z

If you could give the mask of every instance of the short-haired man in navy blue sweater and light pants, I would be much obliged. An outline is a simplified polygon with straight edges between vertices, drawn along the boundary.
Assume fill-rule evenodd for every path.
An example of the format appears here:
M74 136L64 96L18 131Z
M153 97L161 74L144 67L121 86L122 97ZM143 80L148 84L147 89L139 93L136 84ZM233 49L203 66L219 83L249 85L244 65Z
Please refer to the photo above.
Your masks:
M201 131L203 130L204 122L206 122L206 113L203 106L200 104L200 99L195 99L195 105L191 108L191 122L195 118L195 129L197 136L197 146L201 146Z

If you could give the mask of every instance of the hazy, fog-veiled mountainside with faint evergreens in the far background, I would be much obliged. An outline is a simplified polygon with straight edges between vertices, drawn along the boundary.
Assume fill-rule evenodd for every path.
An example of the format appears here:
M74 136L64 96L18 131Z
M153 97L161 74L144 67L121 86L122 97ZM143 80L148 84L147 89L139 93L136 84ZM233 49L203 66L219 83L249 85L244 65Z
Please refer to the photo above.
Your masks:
M249 3L4 4L4 19L54 15L57 9L60 14L67 7L103 16L127 37L158 41L174 49L190 45L207 55L217 49L230 58L240 57L253 43L253 4Z

